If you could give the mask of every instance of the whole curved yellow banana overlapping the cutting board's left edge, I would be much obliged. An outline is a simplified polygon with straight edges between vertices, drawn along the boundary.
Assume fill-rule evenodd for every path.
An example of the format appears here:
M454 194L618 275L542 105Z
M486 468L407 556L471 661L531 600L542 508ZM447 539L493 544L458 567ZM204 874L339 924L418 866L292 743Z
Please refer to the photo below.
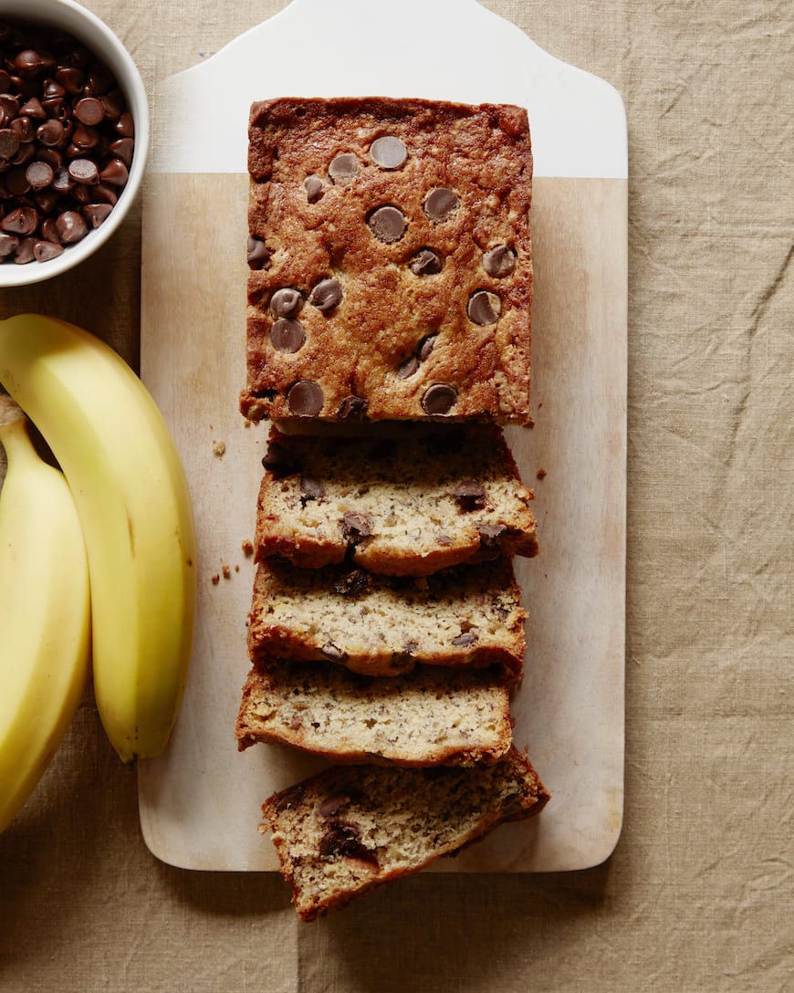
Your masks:
M0 382L53 450L88 554L94 697L124 762L168 744L190 666L197 569L185 471L154 399L88 332L0 321Z

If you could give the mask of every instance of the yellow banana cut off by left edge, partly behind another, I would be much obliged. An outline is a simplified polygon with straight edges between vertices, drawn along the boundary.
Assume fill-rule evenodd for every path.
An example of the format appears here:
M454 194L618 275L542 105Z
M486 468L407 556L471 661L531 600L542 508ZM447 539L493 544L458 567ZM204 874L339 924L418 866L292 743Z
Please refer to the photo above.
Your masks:
M42 778L79 703L90 645L88 564L62 473L0 395L0 831Z

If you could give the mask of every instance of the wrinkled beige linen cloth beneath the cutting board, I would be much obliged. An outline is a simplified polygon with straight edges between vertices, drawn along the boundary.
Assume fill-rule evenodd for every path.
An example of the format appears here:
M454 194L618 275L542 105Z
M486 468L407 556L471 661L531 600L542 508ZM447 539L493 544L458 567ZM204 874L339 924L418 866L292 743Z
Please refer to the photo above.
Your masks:
M86 6L153 84L284 3ZM617 849L581 873L420 876L299 924L275 875L182 872L148 853L134 771L86 694L0 836L2 993L792 988L794 8L485 6L607 79L628 114ZM138 215L73 274L6 291L0 317L57 314L135 363L139 268Z

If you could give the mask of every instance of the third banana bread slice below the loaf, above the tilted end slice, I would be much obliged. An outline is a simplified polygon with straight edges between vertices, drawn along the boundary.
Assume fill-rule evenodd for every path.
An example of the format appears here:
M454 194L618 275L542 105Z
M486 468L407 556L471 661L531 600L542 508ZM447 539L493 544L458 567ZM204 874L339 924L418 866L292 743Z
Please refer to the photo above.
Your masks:
M236 737L240 751L280 742L338 763L495 762L512 740L509 691L487 672L377 677L268 658L248 674Z

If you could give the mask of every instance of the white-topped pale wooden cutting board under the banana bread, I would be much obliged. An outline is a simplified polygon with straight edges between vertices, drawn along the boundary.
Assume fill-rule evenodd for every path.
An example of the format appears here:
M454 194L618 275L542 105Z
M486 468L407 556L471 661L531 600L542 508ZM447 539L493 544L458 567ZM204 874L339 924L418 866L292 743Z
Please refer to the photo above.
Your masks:
M606 83L553 59L474 0L294 0L154 94L141 366L193 490L199 618L171 745L139 766L146 843L184 868L275 869L257 831L260 805L321 765L276 746L238 754L233 737L253 578L243 543L253 537L267 433L237 409L247 117L253 100L278 95L426 96L529 110L536 423L507 434L537 494L541 554L516 561L530 620L514 714L516 744L529 748L553 799L541 817L504 825L437 868L596 865L617 840L623 798L625 114Z

